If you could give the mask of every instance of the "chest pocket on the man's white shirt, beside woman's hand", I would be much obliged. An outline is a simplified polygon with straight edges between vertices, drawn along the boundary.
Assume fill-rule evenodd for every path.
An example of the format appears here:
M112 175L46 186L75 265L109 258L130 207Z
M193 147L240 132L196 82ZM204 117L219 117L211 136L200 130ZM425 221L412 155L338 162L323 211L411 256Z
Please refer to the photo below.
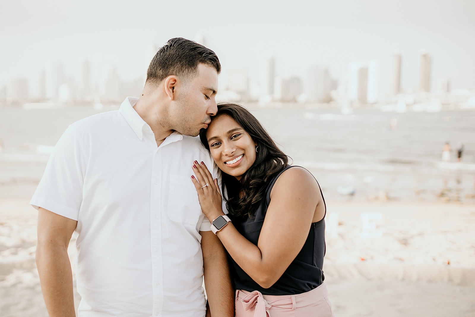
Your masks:
M198 223L201 207L199 206L198 193L191 178L170 175L167 213L168 218L172 221L184 222L190 225Z

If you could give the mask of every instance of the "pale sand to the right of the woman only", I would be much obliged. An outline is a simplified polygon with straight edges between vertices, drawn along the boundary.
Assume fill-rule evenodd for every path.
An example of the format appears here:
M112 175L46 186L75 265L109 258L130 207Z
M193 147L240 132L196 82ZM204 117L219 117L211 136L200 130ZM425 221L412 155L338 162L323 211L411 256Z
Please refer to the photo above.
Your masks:
M474 205L327 206L328 227L338 214L323 267L335 316L475 316ZM380 238L362 238L361 213L381 214Z

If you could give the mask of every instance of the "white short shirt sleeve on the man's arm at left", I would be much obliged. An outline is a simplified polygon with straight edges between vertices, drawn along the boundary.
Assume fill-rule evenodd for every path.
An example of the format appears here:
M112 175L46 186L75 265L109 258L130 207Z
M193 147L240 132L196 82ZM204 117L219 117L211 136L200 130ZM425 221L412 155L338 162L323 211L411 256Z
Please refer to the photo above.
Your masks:
M82 203L86 169L84 148L69 126L49 157L45 173L30 204L77 220Z

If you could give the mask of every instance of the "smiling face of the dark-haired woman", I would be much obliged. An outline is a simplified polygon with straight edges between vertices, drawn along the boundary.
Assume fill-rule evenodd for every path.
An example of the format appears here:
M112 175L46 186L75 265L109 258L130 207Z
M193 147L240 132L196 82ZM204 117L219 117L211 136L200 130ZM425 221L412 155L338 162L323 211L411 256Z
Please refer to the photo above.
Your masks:
M226 114L211 120L206 138L211 156L218 167L238 180L256 161L256 143Z

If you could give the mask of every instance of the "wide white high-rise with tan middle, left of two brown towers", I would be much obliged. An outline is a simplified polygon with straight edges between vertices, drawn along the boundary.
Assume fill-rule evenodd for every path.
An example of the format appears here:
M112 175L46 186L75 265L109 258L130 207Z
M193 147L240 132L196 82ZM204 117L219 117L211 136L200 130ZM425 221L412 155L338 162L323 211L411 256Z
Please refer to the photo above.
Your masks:
M352 62L348 66L348 99L358 104L376 103L379 97L378 60Z

